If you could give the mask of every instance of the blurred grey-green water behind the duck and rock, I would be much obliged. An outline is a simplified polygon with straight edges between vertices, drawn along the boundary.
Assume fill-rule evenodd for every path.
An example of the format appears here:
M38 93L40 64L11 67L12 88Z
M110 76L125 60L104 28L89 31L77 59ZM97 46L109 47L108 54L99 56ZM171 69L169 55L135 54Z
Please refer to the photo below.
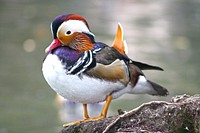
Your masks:
M144 73L168 88L169 96L124 95L111 103L109 115L143 102L200 93L199 0L1 0L0 133L62 128L56 93L45 82L41 65L52 41L51 21L65 13L84 16L96 40L109 45L120 22L128 55L165 70Z

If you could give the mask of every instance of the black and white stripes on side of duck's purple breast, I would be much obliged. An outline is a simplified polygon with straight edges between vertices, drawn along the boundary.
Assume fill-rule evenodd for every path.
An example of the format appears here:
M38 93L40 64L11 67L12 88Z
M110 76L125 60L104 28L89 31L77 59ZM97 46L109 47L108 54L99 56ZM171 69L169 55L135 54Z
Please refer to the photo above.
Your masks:
M83 52L78 61L73 66L71 66L66 73L79 75L95 67L96 59L94 56L95 54L91 50Z

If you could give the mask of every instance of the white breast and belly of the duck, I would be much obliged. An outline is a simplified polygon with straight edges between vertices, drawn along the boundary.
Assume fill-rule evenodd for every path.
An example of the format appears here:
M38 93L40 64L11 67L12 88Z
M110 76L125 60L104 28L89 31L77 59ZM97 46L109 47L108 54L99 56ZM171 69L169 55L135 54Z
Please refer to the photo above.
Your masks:
M64 66L56 55L49 54L45 59L42 71L51 88L64 98L80 103L104 101L106 96L122 90L120 82L108 82L83 75L67 75ZM117 98L120 95L113 95Z

